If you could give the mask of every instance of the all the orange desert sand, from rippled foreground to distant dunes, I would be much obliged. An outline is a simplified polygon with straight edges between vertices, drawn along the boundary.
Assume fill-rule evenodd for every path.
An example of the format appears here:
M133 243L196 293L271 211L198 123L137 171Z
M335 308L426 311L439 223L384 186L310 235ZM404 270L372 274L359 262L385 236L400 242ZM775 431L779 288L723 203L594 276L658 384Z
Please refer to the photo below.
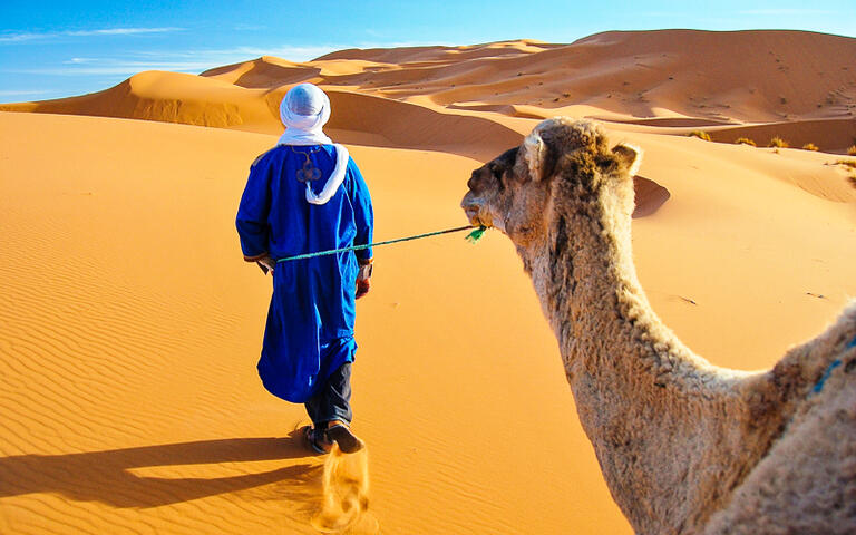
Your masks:
M378 240L461 224L469 172L537 117L611 119L614 140L645 149L633 241L654 309L712 362L757 369L856 295L856 189L829 165L840 155L683 134L766 136L787 119L846 148L855 42L672 31L342 51L0 106L71 114L0 113L0 533L317 533L367 492L367 459L370 505L348 533L630 533L497 232L376 251L353 378L368 456L325 469L301 448L302 407L255 374L270 279L241 261L233 226L275 103L298 81L330 91ZM752 68L713 61L746 49ZM765 81L780 64L787 104ZM837 104L818 108L827 82ZM651 86L643 103L636 86Z

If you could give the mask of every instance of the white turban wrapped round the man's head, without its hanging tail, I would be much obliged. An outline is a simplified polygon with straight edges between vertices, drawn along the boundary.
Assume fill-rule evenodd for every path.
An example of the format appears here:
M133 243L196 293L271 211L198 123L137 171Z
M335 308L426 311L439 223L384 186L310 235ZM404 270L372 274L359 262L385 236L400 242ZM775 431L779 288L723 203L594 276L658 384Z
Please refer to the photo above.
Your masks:
M312 84L292 87L280 104L285 133L279 145L331 145L323 127L330 120L330 98Z

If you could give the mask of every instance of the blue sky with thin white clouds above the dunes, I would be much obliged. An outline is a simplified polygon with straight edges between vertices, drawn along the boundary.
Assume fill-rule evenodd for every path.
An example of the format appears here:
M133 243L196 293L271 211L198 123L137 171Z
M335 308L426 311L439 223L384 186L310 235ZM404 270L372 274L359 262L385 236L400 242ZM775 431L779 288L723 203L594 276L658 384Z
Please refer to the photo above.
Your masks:
M353 47L572 42L606 30L662 28L856 37L856 0L0 0L0 103L97 91L143 70L197 74L262 55L300 61Z

